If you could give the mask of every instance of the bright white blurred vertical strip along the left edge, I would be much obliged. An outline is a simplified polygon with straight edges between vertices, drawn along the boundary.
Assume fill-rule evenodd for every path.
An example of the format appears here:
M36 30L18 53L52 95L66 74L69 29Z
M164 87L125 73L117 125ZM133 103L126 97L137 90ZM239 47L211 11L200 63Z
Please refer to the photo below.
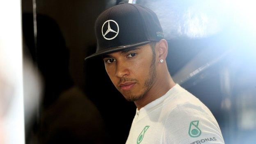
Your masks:
M21 0L0 0L0 18L0 75L12 88L8 108L0 105L5 108L0 115L5 142L0 143L24 144Z

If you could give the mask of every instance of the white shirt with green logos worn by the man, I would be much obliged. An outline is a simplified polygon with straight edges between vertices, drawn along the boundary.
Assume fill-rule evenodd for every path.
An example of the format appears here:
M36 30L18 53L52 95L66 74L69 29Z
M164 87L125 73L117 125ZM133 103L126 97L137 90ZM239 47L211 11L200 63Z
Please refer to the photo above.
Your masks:
M176 84L136 110L126 144L224 144L210 110Z

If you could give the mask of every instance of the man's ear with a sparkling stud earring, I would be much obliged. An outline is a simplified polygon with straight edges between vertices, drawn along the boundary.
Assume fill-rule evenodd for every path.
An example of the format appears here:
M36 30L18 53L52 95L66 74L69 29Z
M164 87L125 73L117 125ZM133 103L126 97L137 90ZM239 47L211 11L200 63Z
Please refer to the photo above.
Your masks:
M161 39L158 42L158 46L157 46L157 50L158 50L158 59L163 59L165 60L168 54L168 43L165 39Z

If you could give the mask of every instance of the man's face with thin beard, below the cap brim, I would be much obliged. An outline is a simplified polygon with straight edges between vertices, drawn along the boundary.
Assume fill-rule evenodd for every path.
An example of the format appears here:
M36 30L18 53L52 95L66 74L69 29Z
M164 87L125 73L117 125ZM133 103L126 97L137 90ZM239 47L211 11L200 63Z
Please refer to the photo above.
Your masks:
M103 60L111 81L128 101L143 98L155 82L155 55L149 44L110 53Z

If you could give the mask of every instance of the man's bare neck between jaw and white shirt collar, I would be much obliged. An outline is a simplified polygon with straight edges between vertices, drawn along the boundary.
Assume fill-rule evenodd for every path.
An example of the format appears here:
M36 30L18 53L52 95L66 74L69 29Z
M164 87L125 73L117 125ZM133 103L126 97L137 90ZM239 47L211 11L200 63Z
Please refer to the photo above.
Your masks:
M149 91L145 94L145 96L142 99L134 102L138 110L151 103L152 101L160 98L166 94L169 89L174 87L175 83L171 79L171 76L168 75L167 77L168 78L162 77L161 79L156 80L151 89L149 89Z

